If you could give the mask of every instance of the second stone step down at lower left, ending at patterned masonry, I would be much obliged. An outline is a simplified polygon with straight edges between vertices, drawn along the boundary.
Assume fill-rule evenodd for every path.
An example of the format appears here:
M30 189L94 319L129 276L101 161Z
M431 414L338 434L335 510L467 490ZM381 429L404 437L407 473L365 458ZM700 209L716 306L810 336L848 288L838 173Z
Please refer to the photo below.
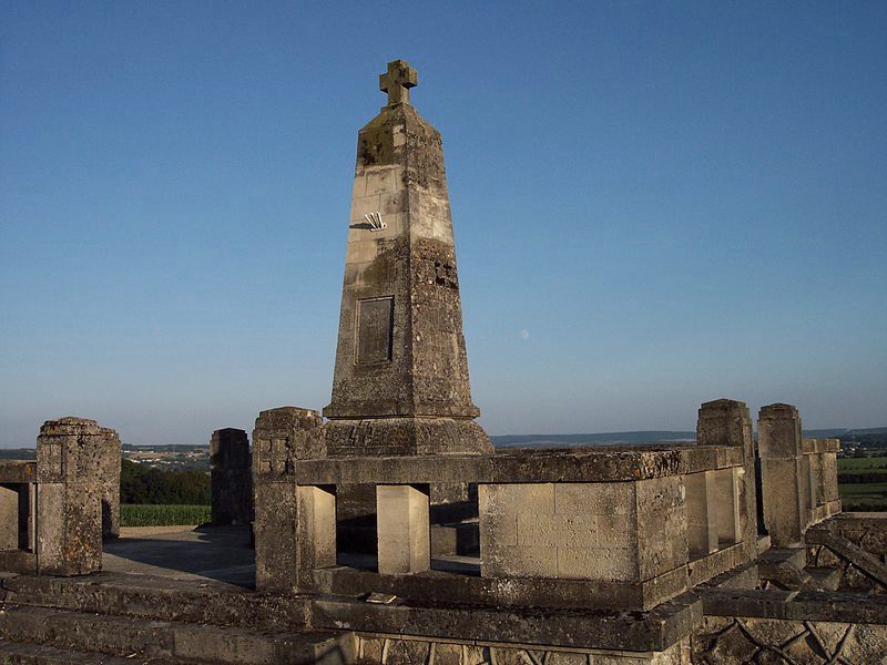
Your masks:
M350 633L259 633L242 627L147 621L4 602L0 640L136 654L174 663L345 665L354 658ZM137 662L137 661L136 661Z

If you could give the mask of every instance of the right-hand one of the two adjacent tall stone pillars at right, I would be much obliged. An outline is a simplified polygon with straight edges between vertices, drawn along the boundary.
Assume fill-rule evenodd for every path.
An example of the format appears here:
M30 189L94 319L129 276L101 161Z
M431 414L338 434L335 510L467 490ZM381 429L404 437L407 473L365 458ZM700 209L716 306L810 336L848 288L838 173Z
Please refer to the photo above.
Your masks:
M762 407L758 449L764 523L775 548L802 542L807 519L804 510L801 418L791 405Z

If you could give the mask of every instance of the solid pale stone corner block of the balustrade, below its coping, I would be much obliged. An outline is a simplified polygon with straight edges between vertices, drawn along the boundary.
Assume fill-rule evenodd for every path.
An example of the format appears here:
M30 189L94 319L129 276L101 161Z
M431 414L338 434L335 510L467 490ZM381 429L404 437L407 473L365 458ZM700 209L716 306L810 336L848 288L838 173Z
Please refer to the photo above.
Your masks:
M644 581L687 561L680 477L482 484L481 575Z

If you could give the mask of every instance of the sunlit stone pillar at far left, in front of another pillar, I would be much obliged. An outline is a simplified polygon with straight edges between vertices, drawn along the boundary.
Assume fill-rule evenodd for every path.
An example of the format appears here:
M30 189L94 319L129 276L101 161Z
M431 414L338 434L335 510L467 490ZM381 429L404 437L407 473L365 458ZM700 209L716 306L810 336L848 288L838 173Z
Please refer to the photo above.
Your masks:
M49 420L37 439L38 573L84 575L102 569L103 451L94 420Z

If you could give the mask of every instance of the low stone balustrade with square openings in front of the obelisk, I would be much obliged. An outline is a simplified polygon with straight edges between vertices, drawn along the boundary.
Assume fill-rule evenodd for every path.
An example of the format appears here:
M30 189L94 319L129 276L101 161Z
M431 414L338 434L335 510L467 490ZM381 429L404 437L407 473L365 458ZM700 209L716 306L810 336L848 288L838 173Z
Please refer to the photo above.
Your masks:
M294 478L299 592L645 610L754 552L730 446L300 460ZM478 488L479 575L430 573L430 489L460 482ZM339 484L375 488L377 571L338 565Z

